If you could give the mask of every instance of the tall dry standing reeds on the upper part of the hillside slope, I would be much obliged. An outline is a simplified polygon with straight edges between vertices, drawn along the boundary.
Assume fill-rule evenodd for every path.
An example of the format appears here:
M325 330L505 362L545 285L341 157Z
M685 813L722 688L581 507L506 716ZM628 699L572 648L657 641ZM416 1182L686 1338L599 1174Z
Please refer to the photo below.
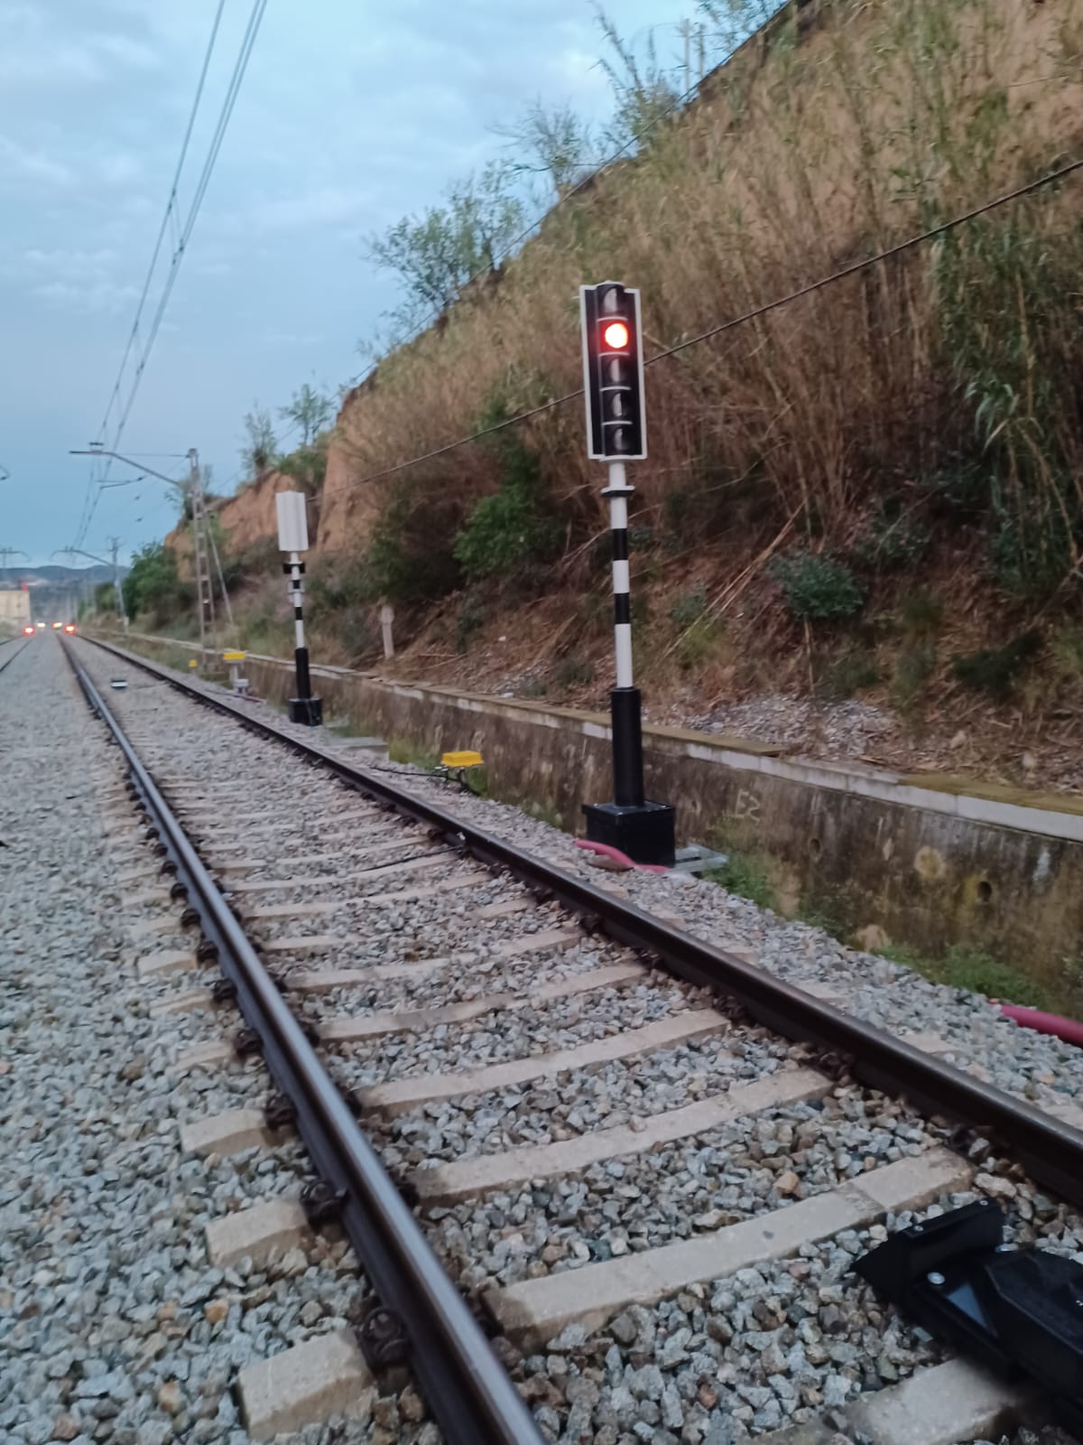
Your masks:
M495 400L578 387L582 282L641 288L650 354L1083 153L1082 61L1083 0L784 7L351 394L323 535L362 551L403 496L466 514L497 490L479 445L362 478L468 435ZM969 468L991 568L1056 585L1083 516L1082 202L1083 181L1047 188L651 367L640 520L684 506L700 545L739 526L751 553L791 519L796 546L845 548L885 497L936 507L937 478ZM582 403L523 439L565 519L563 572L582 569L604 527Z

